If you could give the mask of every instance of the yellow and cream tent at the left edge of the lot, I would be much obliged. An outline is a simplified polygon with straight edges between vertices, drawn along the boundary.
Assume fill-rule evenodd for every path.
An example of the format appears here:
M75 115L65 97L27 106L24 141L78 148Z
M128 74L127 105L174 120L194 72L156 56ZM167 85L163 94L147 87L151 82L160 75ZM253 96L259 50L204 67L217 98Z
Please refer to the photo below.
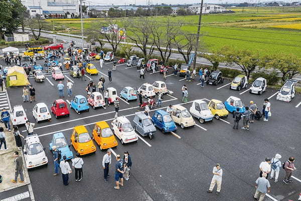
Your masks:
M25 86L29 85L27 74L23 67L14 66L9 68L6 76L7 86Z

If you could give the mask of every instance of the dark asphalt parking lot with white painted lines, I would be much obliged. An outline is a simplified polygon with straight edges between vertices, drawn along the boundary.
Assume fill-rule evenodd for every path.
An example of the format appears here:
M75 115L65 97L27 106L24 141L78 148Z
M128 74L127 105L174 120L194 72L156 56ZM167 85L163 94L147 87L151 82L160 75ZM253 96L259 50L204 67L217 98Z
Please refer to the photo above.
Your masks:
M38 63L42 65L43 60L39 60ZM112 149L113 155L123 155L124 151L128 151L133 166L130 179L124 182L120 190L115 190L113 175L116 160L112 157L109 171L112 176L109 182L105 183L101 166L105 151L100 151L99 147L96 153L82 157L83 180L75 182L72 173L69 175L68 186L63 185L61 176L52 176L54 167L49 151L49 143L54 133L63 132L69 142L75 126L84 125L91 134L96 122L106 121L110 125L115 115L114 106L96 110L90 108L89 112L82 112L80 115L69 109L70 117L59 119L52 114L51 122L38 123L34 130L34 133L40 136L49 159L48 166L29 171L36 200L252 200L254 182L259 175L259 164L265 157L273 157L279 153L282 156L281 161L284 162L288 157L294 156L296 168L301 169L298 162L301 159L299 94L291 103L284 103L276 100L277 90L268 88L262 95L250 94L248 88L240 91L230 90L229 80L217 86L205 85L202 88L198 81L187 82L184 77L174 76L171 72L166 80L159 72L152 74L147 72L145 79L139 79L136 67L127 67L125 63L117 64L116 71L112 71L112 82L109 83L107 71L108 68L112 68L112 62L105 62L102 69L99 62L93 63L99 74L86 75L86 80L73 78L68 71L63 72L64 85L66 86L67 80L73 83L73 95L86 95L88 81L92 79L97 84L100 76L106 79L105 88L114 87L118 94L125 86L139 87L145 82L152 84L154 81L162 80L174 93L165 95L162 106L151 109L150 116L155 110L166 110L169 105L181 104L189 110L193 100L203 99L208 103L215 98L224 102L231 95L241 98L246 106L253 100L260 110L264 98L269 98L272 116L268 122L261 120L250 124L250 131L233 130L232 114L229 114L227 118L214 119L205 124L196 121L196 126L187 129L181 129L178 125L178 130L169 134L163 134L157 129L152 140L139 134L137 143L121 145L118 140L118 146ZM45 73L45 76L46 79L42 83L35 82L32 77L29 77L29 81L36 89L36 103L45 103L50 109L54 100L59 99L57 90L59 81L53 80L51 73ZM183 84L187 85L189 92L189 102L185 104L182 104ZM8 93L11 105L23 105L28 119L35 122L32 110L36 103L23 103L22 87L11 87ZM71 99L72 97L67 96L65 87L64 100L69 103ZM120 100L119 116L132 121L134 113L138 111L140 111L138 101L127 103L123 99ZM20 131L26 135L24 126ZM75 154L72 146L71 150ZM220 163L223 168L222 189L218 196L206 192L212 178L212 168L216 163ZM294 172L294 181L288 185L281 181L283 176L284 171L281 169L278 183L270 181L271 192L266 200L297 200L301 192L300 171ZM2 193L1 198L23 191L24 189L17 188Z

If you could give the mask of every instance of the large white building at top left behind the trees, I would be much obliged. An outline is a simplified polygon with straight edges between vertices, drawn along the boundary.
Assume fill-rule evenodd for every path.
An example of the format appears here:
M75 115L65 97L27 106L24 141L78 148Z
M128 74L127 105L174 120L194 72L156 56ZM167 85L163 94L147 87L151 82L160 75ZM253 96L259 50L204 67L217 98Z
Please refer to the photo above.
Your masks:
M22 0L22 4L27 7L31 17L37 14L44 18L61 18L69 14L79 15L78 0Z

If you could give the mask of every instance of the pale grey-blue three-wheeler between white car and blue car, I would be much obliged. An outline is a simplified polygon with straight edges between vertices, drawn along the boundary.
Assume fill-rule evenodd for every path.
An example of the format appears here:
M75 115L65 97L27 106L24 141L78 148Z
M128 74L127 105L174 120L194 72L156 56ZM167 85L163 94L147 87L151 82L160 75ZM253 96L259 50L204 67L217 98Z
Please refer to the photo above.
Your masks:
M133 119L133 128L141 136L148 136L149 139L152 139L154 132L156 132L156 127L154 126L153 122L149 117L141 112L135 113L135 117Z

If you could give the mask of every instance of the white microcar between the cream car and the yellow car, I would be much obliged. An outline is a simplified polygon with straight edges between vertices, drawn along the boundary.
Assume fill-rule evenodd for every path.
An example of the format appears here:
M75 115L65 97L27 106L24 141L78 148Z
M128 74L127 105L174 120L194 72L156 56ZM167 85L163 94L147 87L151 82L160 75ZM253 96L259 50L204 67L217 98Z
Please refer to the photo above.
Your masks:
M213 115L204 100L194 100L189 111L191 115L197 118L201 124L213 120Z

